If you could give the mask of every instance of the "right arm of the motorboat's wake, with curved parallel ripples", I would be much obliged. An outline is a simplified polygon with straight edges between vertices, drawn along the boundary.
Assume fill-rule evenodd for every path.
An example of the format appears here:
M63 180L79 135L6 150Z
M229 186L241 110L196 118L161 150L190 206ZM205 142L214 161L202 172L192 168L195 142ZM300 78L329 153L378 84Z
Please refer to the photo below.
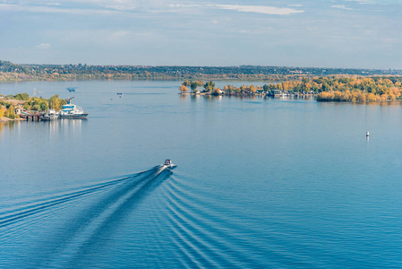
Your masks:
M192 187L173 177L164 189L169 233L177 256L184 267L264 267L258 250L246 236L250 230L235 225L235 220L222 218L217 203L209 195L192 192ZM214 210L211 210L214 209ZM227 210L227 209L225 209ZM217 214L218 212L218 214ZM239 232L241 231L241 232ZM255 249L257 248L257 250ZM244 251L238 249L253 249Z

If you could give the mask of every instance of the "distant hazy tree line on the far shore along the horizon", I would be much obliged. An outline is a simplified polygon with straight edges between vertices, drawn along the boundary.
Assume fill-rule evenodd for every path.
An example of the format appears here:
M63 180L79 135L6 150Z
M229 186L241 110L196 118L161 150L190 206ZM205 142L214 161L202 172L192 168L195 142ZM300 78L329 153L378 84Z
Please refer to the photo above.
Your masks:
M288 66L16 65L0 60L0 82L15 80L301 80L304 76L402 75L401 70Z

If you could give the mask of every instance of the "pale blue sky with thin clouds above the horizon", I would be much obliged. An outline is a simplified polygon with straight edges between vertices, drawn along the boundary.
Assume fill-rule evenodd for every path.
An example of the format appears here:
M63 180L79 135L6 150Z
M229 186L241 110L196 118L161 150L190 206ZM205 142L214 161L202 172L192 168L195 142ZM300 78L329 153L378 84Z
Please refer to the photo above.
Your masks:
M16 64L402 69L402 0L0 0Z

